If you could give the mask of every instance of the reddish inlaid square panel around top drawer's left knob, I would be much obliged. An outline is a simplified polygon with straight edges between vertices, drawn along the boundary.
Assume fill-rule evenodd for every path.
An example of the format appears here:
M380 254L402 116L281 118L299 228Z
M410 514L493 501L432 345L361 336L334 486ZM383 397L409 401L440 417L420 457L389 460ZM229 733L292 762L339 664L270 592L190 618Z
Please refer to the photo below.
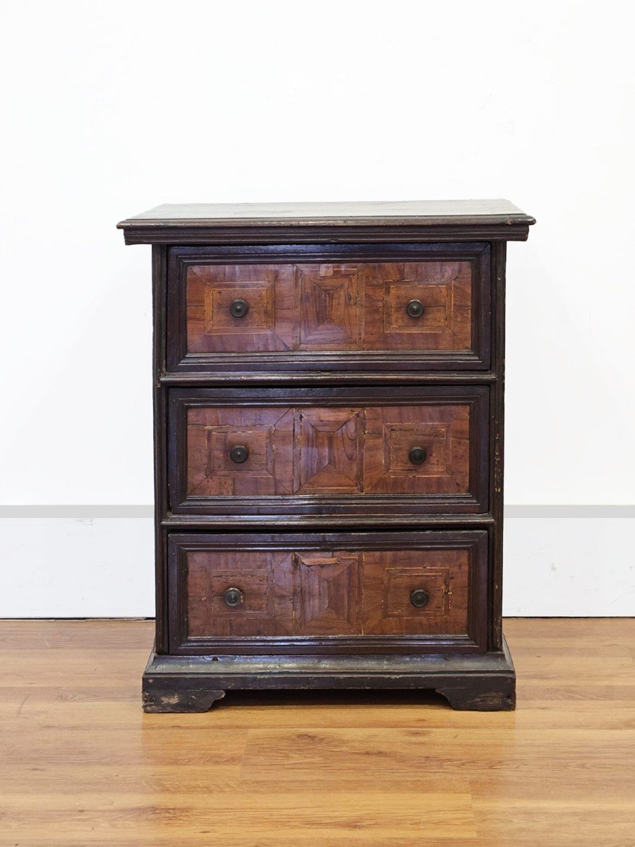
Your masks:
M294 346L291 265L191 265L185 284L188 352ZM246 312L236 303L246 304Z

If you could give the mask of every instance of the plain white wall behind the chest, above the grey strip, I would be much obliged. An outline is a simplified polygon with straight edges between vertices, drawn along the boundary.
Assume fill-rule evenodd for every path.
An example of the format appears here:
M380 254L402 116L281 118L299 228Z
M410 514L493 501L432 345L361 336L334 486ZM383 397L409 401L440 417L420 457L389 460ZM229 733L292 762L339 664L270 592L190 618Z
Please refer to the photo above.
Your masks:
M0 506L152 501L149 248L124 247L119 219L428 197L508 197L538 219L509 249L507 502L632 503L624 8L11 4Z

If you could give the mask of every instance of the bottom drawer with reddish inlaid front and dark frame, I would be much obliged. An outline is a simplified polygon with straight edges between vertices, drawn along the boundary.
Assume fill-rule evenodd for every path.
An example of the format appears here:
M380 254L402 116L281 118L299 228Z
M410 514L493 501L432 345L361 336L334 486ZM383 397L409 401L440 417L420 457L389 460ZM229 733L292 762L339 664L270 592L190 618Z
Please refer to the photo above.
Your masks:
M488 534L171 534L171 650L484 650Z

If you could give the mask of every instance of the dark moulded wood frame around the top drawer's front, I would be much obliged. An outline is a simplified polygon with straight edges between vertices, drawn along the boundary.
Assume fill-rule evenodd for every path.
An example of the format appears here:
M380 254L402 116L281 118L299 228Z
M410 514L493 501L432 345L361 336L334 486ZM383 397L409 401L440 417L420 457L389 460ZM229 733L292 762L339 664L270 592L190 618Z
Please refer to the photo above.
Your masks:
M168 260L168 374L285 372L359 374L385 371L487 370L490 356L490 246L463 244L373 244L171 247ZM191 265L345 262L466 261L472 266L472 351L188 353L186 274Z

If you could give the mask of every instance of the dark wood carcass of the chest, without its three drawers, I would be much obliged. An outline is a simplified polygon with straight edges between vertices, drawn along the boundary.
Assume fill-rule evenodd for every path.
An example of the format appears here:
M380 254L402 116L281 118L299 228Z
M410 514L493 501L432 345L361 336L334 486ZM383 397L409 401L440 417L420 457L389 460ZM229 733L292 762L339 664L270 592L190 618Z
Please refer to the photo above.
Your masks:
M157 625L155 650L143 678L146 711L205 711L224 692L235 689L436 689L452 706L478 710L511 709L515 703L515 673L501 631L502 596L502 518L503 518L503 412L504 412L504 317L506 241L524 241L533 219L488 220L485 216L439 220L435 224L278 226L193 226L190 222L170 225L131 221L123 226L126 243L152 244L152 284L154 304L154 454L156 516L156 598ZM490 248L491 280L490 363L488 370L426 373L389 368L367 373L293 372L290 370L191 373L168 372L168 246L175 245L337 245L417 244L482 241ZM374 249L374 248L373 248ZM382 254L384 255L384 254ZM392 360L394 361L394 360ZM461 368L463 366L461 365ZM216 385L219 382L250 386L290 385L489 385L489 512L483 514L393 514L385 516L320 514L174 514L168 506L168 390L171 385ZM191 533L235 529L241 533L271 528L310 531L395 529L417 530L487 529L489 562L487 592L489 608L488 650L479 654L439 654L393 656L389 666L385 656L170 656L168 618L168 535L173 531Z

